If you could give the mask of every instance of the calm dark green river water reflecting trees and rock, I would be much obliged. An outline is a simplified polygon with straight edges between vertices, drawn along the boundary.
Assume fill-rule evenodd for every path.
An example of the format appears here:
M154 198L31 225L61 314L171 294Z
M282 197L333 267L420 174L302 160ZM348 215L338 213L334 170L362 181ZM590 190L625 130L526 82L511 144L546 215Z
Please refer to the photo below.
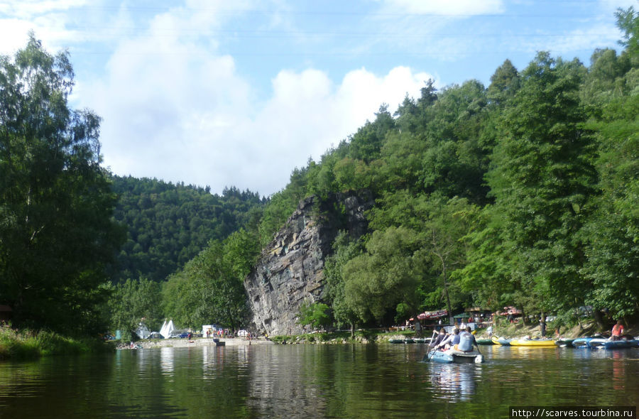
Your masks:
M424 344L123 350L0 364L0 418L508 418L518 406L638 406L639 349Z

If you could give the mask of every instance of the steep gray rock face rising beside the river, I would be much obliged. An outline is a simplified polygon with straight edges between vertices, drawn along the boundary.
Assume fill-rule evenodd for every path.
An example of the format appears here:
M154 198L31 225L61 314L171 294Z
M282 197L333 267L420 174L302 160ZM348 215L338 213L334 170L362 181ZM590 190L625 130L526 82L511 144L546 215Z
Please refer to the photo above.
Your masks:
M303 332L297 324L300 305L324 299L324 260L337 233L364 234L364 211L372 206L368 193L300 202L244 281L255 330L270 335Z

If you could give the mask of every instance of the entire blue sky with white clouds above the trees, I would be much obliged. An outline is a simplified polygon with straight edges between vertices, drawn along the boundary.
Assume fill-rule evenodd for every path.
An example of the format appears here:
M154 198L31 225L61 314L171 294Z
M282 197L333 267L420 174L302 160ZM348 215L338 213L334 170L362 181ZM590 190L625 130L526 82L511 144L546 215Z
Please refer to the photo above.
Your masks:
M589 64L637 0L9 0L0 54L28 31L67 49L75 108L102 116L118 175L271 195L381 104L425 80L488 85L537 51Z

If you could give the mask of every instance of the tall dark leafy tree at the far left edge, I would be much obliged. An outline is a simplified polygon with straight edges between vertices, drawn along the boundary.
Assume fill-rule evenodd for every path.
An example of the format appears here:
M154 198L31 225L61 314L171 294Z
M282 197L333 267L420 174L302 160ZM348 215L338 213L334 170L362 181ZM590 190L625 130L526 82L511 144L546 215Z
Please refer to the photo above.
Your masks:
M67 54L33 35L0 58L0 301L18 325L89 332L121 230L100 119L69 108L72 86Z

